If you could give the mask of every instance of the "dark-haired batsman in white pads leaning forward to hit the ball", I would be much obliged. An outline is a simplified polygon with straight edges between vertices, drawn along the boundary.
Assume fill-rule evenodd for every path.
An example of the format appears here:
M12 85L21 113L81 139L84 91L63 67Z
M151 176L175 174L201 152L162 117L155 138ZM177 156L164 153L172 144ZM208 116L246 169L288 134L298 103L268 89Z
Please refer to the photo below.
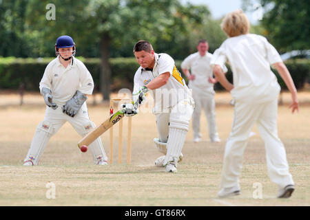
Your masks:
M168 54L156 54L147 41L134 45L134 56L141 67L134 75L132 100L145 100L150 91L154 98L153 113L156 115L158 138L155 146L164 156L156 159L156 166L165 166L166 172L176 172L182 159L182 148L187 135L189 120L194 109L194 100L181 77L174 59ZM138 113L133 104L125 104L126 115Z

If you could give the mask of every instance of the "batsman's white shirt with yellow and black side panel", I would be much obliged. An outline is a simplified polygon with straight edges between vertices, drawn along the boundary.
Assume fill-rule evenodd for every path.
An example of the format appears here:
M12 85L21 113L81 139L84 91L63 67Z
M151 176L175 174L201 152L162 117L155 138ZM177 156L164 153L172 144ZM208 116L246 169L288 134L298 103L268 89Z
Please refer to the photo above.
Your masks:
M161 113L163 111L171 109L181 100L191 100L192 93L185 84L185 80L182 78L174 59L168 54L154 54L155 63L152 70L143 69L139 67L134 75L134 91L136 94L141 87L147 85L157 76L164 74L165 72L170 73L168 82L158 89L150 90L150 94L154 98L154 109L153 113ZM194 101L192 101L194 104Z

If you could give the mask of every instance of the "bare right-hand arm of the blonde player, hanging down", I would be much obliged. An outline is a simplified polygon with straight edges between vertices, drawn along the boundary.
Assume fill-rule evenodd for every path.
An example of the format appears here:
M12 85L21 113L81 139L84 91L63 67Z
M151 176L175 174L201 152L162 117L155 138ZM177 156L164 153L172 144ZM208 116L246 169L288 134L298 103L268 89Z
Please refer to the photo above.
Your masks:
M289 74L289 70L287 69L287 66L282 62L273 63L273 66L276 68L281 78L285 82L285 85L287 85L287 88L291 92L292 103L289 106L289 108L291 109L291 112L294 113L295 110L298 112L299 103L298 103L298 98L297 98L297 89L293 83L291 74Z

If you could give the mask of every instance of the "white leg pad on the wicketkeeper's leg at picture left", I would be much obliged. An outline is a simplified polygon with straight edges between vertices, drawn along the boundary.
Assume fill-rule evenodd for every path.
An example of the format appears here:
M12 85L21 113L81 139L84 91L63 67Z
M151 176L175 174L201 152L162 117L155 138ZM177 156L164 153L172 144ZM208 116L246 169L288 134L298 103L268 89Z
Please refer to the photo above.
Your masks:
M48 144L48 140L50 140L50 137L52 137L53 134L54 129L50 122L40 122L34 133L34 137L32 138L30 149L24 159L24 163L31 162L32 165L38 165L45 146Z

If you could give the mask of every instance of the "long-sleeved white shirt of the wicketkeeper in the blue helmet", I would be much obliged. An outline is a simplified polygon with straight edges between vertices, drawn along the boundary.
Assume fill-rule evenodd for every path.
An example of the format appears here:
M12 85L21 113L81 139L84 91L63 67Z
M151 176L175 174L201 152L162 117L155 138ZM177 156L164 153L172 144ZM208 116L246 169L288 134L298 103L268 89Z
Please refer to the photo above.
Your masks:
M40 82L40 91L43 87L50 89L53 102L62 106L74 96L76 90L91 95L94 81L85 65L77 58L72 57L70 64L65 68L57 56L45 68Z

